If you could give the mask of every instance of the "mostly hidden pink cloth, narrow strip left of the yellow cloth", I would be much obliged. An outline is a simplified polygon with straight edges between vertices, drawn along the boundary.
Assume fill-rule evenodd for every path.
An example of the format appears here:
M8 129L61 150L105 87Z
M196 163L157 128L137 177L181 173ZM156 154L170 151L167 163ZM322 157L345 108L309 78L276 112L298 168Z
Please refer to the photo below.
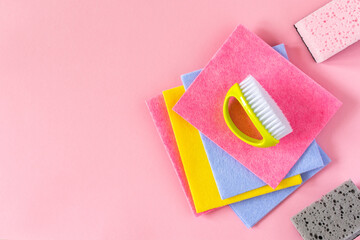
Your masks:
M200 216L206 212L197 213L195 210L194 201L190 192L189 184L182 165L179 149L176 144L175 135L172 130L170 118L166 110L165 100L162 94L146 101L151 117L155 123L155 127L160 135L160 138L165 146L171 162L174 166L176 174L180 180L186 198L189 202L191 210L195 216Z

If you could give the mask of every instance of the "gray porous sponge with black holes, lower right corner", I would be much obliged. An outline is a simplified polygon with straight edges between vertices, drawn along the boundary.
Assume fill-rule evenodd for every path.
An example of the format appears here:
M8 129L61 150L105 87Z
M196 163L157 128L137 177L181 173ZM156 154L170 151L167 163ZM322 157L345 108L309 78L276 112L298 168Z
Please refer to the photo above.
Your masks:
M360 191L346 181L291 221L306 240L355 239L360 235Z

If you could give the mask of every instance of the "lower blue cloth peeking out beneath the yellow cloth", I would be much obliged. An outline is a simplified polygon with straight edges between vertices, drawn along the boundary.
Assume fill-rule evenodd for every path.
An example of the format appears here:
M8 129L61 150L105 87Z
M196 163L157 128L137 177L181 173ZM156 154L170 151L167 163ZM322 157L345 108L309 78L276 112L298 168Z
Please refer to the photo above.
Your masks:
M330 163L331 160L326 155L326 153L319 146L318 149L324 166L301 174L303 180L303 183L301 185L282 189L279 191L261 195L259 197L230 204L230 207L234 210L236 215L238 215L241 221L248 228L254 226L263 217L265 217L271 210L273 210L277 205L279 205L285 198L287 198L296 189L302 186L307 180L309 180L312 176L314 176L316 173L318 173L321 169L323 169L326 165Z

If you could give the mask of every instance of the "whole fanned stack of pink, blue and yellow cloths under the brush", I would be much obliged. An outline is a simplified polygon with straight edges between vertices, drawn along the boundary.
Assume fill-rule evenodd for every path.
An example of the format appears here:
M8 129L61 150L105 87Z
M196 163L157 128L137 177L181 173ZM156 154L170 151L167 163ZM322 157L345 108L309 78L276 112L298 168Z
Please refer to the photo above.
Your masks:
M293 129L276 146L246 144L225 123L225 95L249 74ZM250 228L330 162L315 137L341 102L292 65L283 44L271 48L240 25L204 69L181 80L147 106L196 216L229 205ZM259 137L239 102L229 111Z

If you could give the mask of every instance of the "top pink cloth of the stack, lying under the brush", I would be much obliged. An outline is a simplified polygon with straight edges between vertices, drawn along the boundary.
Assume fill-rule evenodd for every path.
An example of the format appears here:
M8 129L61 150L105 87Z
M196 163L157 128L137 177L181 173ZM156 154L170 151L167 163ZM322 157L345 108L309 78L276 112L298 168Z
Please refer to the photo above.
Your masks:
M225 95L249 74L272 96L293 128L274 147L248 145L225 123ZM338 99L240 25L173 110L275 188L340 106Z

